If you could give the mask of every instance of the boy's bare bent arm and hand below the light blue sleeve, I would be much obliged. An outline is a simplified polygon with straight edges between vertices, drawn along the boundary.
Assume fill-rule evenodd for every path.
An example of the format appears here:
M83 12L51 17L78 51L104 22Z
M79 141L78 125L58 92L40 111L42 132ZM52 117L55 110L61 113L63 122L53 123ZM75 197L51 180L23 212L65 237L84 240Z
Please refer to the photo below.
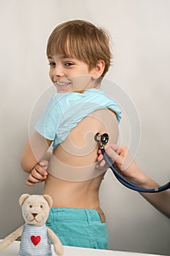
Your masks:
M34 186L47 178L47 165L50 159L50 147L52 140L47 140L38 132L29 138L20 159L20 165L26 173L30 173L26 184Z

